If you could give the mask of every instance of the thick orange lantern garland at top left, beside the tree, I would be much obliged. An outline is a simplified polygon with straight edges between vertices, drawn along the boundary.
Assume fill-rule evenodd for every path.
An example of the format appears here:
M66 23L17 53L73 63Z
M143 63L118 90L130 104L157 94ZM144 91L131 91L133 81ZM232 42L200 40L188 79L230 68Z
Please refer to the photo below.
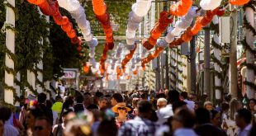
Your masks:
M73 30L73 25L69 21L67 16L61 16L59 12L59 4L57 1L50 1L48 3L47 0L27 0L28 2L37 5L40 7L40 11L47 16L53 16L55 23L61 26L61 29L64 30L69 38L71 39L72 44L78 44L78 50L82 49L81 40L76 35L76 31Z

